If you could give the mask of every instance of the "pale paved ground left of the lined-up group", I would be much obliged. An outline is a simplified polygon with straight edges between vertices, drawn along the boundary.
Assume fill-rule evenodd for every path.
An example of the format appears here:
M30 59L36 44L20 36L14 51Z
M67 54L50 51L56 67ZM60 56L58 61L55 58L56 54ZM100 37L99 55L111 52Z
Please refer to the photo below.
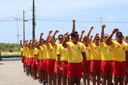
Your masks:
M20 59L0 61L0 85L42 85L38 80L26 76Z

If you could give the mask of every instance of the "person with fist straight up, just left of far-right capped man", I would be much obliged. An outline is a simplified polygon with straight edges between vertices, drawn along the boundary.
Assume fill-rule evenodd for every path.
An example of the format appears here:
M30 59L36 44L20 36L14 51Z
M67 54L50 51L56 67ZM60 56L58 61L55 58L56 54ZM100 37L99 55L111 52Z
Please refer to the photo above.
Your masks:
M107 35L104 34L105 25L101 28L101 77L103 85L112 84L112 52L109 46L106 45Z

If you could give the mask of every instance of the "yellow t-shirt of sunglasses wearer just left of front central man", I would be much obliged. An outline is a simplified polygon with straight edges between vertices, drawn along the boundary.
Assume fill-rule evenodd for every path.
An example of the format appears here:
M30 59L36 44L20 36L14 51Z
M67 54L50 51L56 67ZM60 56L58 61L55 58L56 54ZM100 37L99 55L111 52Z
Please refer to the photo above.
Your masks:
M59 45L57 54L61 55L60 61L68 61L69 52L68 52L67 48L64 48L62 46L62 44Z

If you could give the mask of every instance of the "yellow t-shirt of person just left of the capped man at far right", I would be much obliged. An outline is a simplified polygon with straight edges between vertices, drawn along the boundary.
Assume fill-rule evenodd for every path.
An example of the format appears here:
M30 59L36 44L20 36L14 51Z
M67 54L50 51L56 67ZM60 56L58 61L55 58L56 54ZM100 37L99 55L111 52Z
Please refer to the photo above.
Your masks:
M109 46L107 46L104 42L100 43L101 47L101 60L110 61L112 60L112 51Z

